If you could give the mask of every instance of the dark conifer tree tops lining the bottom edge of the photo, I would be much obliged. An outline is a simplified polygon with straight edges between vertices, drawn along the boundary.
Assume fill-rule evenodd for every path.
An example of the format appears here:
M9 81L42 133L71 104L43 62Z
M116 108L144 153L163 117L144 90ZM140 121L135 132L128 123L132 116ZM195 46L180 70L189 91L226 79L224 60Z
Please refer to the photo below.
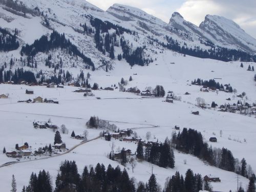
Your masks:
M248 192L255 192L254 182L255 180L250 180ZM42 170L38 176L35 173L31 174L29 184L23 187L22 192L199 192L203 189L212 189L207 181L203 181L200 174L194 174L191 169L187 170L184 177L179 172L168 177L162 190L153 173L146 183L136 182L134 178L129 177L125 168L121 170L119 166L112 167L110 164L106 168L98 163L95 168L85 166L80 175L76 162L67 160L60 165L55 185L53 188L49 172ZM11 191L16 192L14 176L11 187Z

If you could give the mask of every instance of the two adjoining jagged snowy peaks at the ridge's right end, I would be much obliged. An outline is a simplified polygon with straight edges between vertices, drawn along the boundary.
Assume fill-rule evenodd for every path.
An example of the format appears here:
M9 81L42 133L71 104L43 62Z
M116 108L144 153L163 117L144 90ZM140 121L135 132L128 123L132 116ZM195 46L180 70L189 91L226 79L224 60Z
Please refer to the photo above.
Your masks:
M178 12L175 12L170 18L169 25L195 34L221 47L242 49L250 53L256 51L256 39L225 17L206 15L205 20L198 27L187 22Z

